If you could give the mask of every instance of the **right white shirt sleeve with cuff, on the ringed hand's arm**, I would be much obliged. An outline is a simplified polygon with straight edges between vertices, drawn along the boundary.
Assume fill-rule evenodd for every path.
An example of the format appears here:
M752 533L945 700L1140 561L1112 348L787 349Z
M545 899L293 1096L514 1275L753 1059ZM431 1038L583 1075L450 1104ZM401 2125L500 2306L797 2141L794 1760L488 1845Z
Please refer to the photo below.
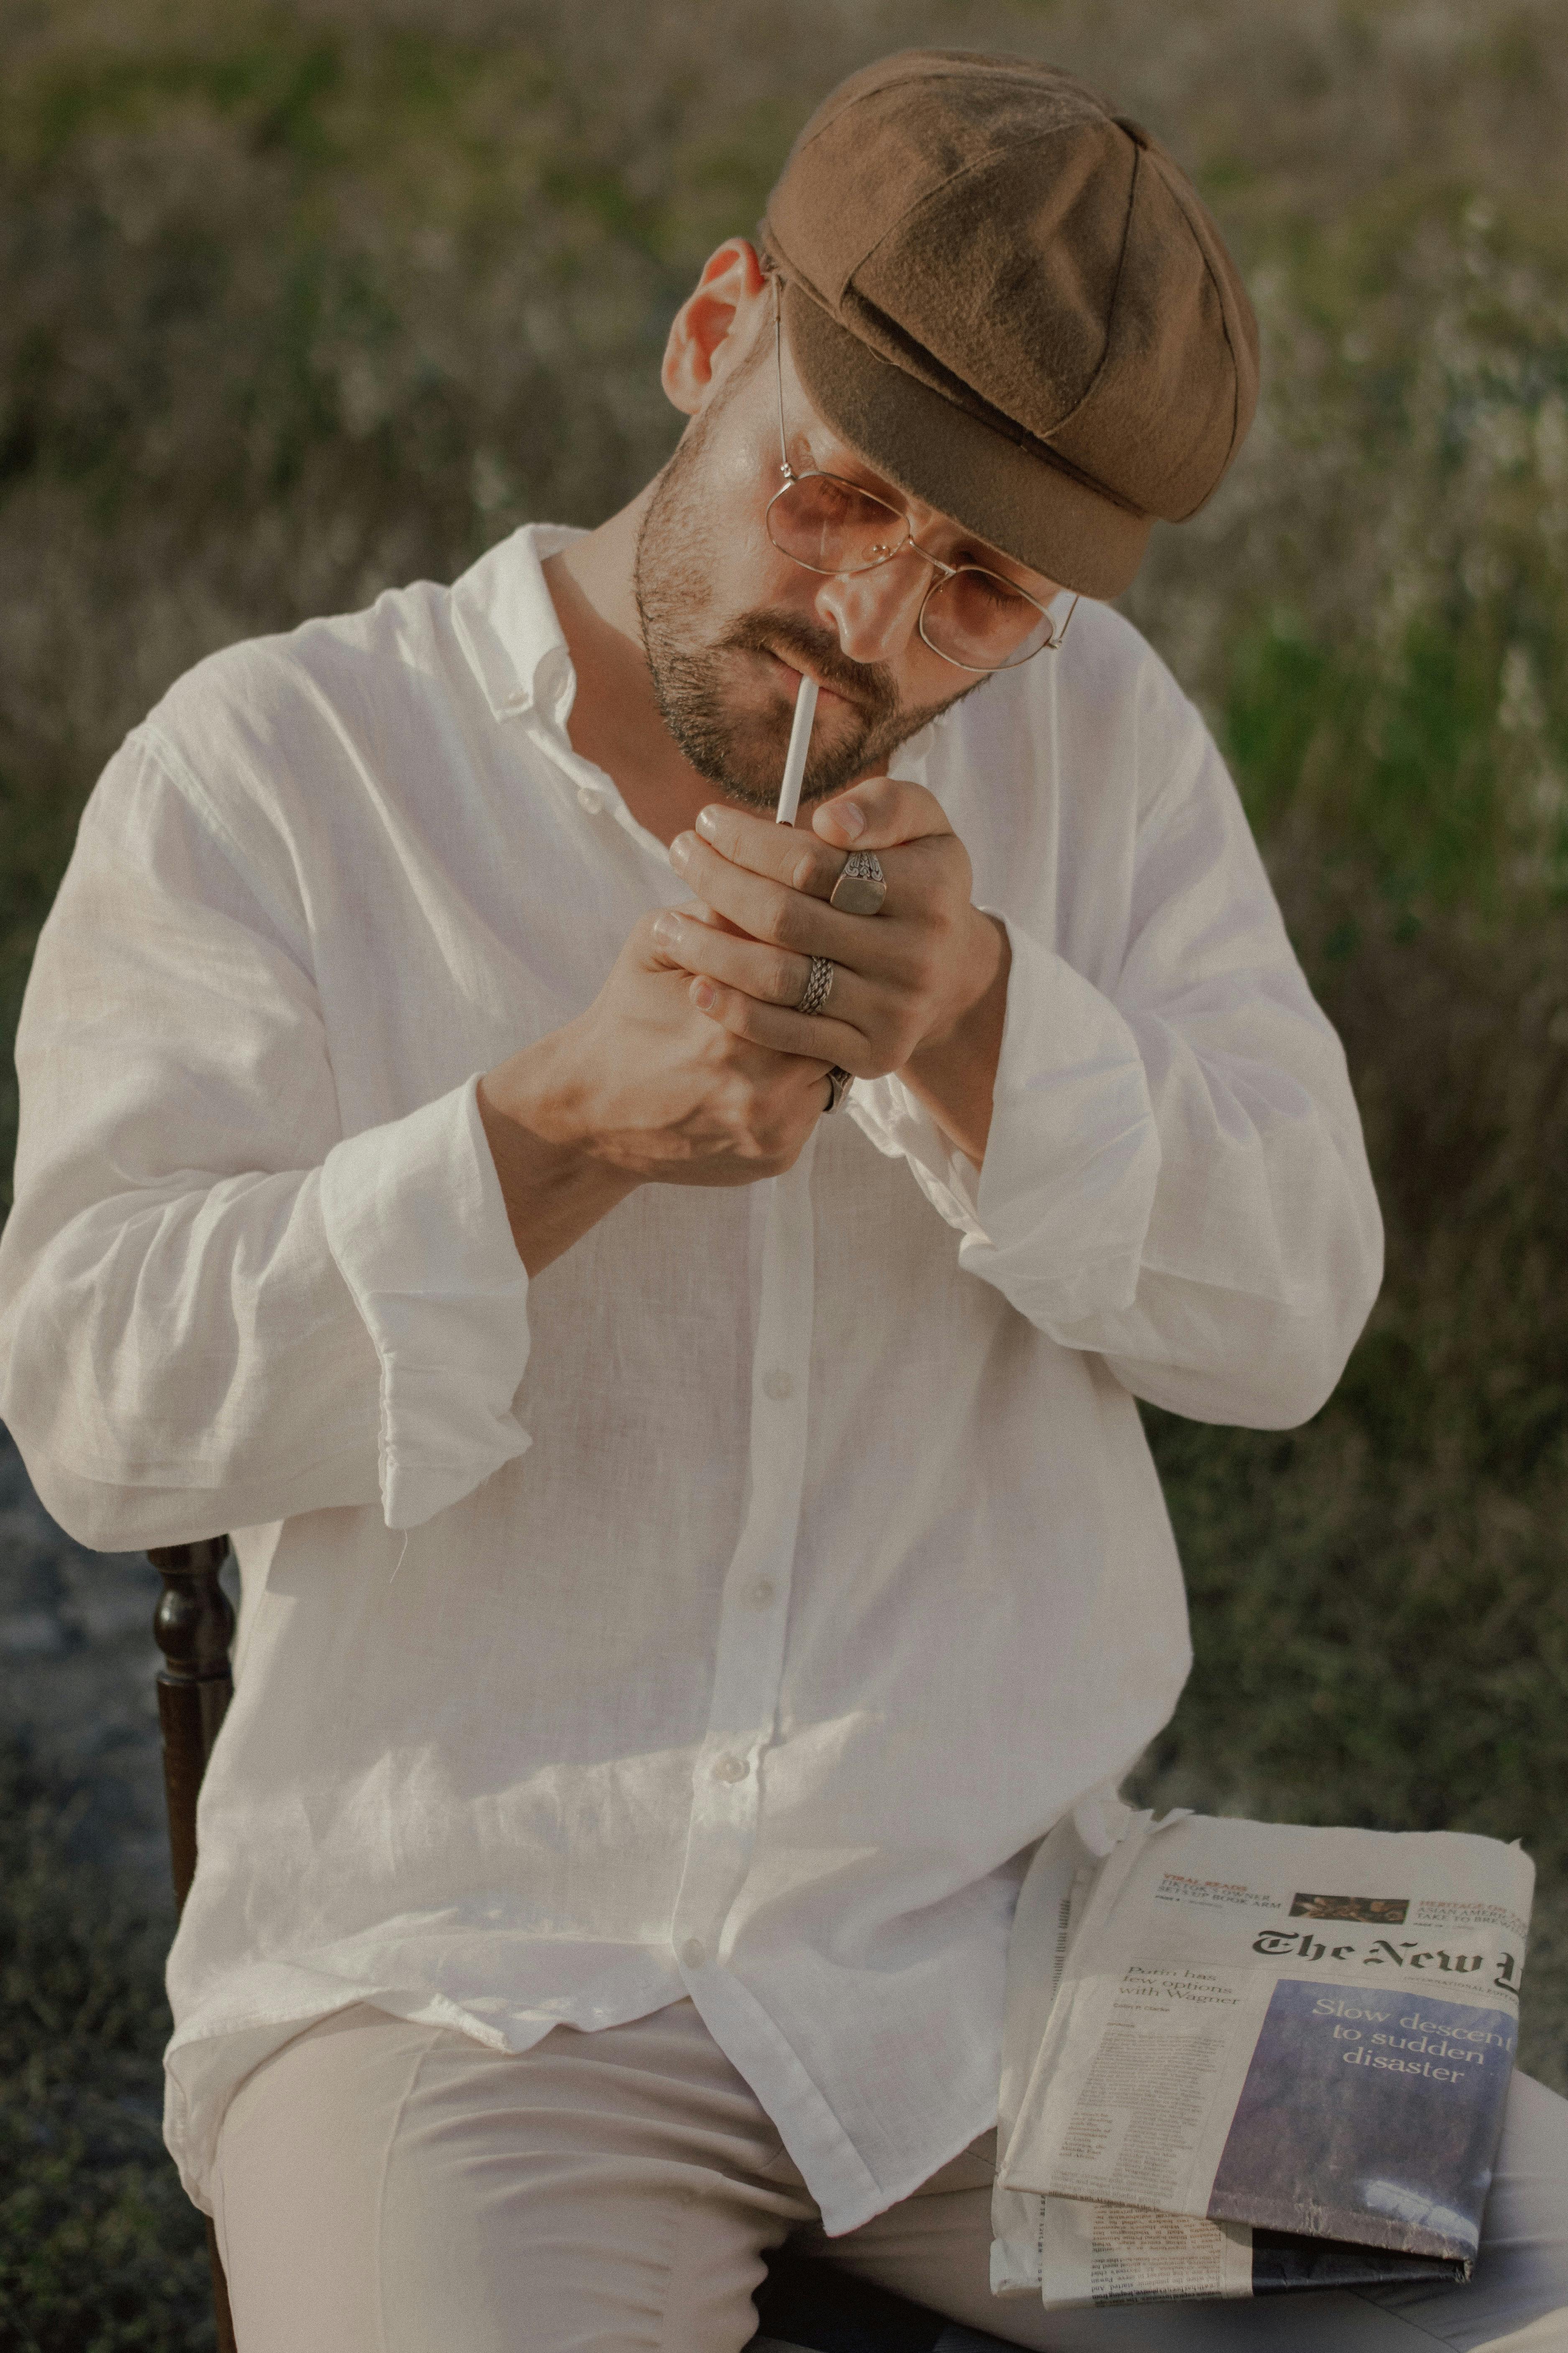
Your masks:
M851 1101L959 1231L961 1266L1051 1339L1154 1405L1286 1428L1345 1369L1382 1221L1340 1040L1197 715L1128 873L1124 948L1095 979L1004 913L983 1167L898 1078Z

